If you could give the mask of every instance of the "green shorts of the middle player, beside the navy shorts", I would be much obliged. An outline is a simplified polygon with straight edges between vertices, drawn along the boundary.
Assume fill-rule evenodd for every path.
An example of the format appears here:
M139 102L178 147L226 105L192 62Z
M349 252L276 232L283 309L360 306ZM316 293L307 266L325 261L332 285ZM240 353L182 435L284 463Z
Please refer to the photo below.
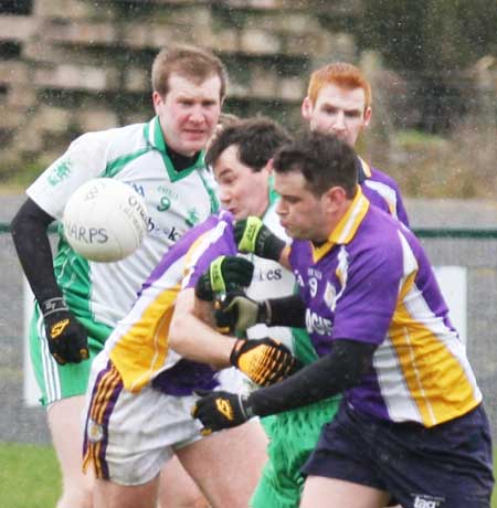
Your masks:
M304 487L300 468L316 447L322 425L335 417L340 401L336 396L261 420L269 438L268 461L252 496L252 508L299 506Z

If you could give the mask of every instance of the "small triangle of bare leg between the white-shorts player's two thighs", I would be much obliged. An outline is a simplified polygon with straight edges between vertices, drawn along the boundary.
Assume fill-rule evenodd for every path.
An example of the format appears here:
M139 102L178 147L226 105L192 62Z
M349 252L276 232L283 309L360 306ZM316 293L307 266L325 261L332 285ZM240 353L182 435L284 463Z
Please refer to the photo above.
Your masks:
M160 508L209 508L198 485L173 456L160 473Z

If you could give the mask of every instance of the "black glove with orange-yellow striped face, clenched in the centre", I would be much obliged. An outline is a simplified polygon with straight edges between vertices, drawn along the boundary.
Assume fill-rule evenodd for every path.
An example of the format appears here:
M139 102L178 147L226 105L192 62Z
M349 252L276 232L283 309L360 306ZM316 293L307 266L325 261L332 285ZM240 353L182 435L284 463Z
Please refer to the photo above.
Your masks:
M230 363L261 387L277 383L298 369L290 350L268 337L236 340L231 350Z

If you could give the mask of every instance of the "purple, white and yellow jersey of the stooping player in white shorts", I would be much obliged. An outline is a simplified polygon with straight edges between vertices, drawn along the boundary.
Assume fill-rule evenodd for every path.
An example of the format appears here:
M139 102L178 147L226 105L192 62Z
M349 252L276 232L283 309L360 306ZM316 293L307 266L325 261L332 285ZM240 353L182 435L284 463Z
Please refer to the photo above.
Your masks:
M169 325L180 289L194 287L220 255L235 253L233 216L221 211L186 233L162 256L105 345L127 390L140 391L155 379L158 388L172 395L215 385L214 370L169 348Z

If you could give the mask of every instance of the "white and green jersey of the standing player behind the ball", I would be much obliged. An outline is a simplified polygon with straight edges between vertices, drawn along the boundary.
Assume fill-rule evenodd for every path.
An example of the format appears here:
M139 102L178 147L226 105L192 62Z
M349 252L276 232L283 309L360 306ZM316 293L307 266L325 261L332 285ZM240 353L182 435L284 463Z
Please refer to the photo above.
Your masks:
M116 263L83 258L65 241L62 226L59 229L54 260L57 283L67 305L89 335L104 341L117 321L127 315L142 282L165 251L215 212L218 199L203 152L190 168L175 170L158 117L147 124L81 136L27 193L46 213L60 220L72 192L99 177L133 186L144 197L149 216L142 245Z

